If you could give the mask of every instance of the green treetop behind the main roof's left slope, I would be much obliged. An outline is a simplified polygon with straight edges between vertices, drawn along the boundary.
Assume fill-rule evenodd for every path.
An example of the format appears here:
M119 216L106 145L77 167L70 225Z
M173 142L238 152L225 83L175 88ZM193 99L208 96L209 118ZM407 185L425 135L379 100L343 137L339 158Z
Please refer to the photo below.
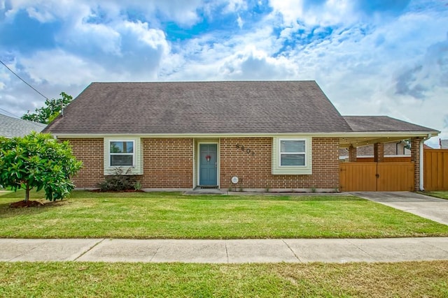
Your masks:
M65 107L66 105L71 103L71 100L73 100L73 97L69 96L65 92L61 92L60 96L62 98L52 98L45 100L44 107L39 107L34 113L30 113L28 111L27 114L23 115L21 118L28 121L49 124L57 117L57 115L59 115L62 110L62 106Z

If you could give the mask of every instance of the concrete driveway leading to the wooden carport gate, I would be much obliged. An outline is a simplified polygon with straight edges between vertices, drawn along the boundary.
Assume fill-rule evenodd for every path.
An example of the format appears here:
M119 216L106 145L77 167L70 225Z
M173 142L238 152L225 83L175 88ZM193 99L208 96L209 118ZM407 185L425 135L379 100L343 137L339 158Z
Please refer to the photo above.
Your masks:
M366 191L351 194L448 225L448 200L409 191Z

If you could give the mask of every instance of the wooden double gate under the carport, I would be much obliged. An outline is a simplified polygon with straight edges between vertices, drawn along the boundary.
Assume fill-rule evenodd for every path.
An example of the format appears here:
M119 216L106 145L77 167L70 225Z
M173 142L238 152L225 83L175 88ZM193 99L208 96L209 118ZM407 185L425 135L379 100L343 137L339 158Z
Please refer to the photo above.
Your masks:
M414 191L414 163L341 163L340 191Z

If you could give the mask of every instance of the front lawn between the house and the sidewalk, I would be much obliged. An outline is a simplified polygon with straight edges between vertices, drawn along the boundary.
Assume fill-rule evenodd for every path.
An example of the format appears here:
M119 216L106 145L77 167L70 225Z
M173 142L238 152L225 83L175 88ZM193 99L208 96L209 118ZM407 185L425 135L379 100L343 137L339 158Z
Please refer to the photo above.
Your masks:
M381 238L448 236L448 226L344 195L228 196L74 191L45 207L10 209L3 238ZM31 198L42 198L32 193Z

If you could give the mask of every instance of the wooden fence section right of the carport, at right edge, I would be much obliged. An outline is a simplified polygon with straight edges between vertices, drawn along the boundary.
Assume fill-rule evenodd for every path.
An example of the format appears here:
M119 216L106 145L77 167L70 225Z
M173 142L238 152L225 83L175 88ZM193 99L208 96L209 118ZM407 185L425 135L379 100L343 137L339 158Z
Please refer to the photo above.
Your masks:
M448 149L425 149L423 186L426 191L448 191Z

